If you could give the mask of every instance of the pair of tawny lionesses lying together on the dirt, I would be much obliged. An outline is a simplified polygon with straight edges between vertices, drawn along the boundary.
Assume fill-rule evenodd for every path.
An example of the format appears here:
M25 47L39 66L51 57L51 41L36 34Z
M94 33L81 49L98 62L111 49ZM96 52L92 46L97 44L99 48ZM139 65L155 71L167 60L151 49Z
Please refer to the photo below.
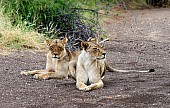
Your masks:
M67 78L76 80L76 87L82 91L90 91L103 87L102 78L107 70L114 72L136 72L135 70L117 70L106 63L106 52L98 44L96 38L81 43L81 51L71 53L65 48L67 38L62 40L46 40L49 48L45 70L21 72L22 75L34 75L37 79ZM138 72L151 72L148 71Z

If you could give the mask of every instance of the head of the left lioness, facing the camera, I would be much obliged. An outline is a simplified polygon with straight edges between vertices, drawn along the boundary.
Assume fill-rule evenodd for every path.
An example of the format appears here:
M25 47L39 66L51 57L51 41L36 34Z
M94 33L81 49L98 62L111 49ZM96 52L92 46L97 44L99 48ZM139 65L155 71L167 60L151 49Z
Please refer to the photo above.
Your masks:
M54 40L46 40L46 44L49 48L50 53L52 54L52 58L60 59L62 58L65 53L65 45L67 43L67 38L64 39L54 39Z

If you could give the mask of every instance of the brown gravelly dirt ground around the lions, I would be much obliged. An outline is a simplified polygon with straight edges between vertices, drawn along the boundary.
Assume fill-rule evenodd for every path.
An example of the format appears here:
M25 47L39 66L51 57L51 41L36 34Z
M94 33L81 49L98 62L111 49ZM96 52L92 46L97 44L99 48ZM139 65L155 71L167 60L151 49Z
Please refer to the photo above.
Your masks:
M73 79L21 76L45 68L45 53L13 51L0 55L0 108L170 108L170 8L127 11L106 18L103 28L112 67L156 72L107 72L104 88L82 92Z

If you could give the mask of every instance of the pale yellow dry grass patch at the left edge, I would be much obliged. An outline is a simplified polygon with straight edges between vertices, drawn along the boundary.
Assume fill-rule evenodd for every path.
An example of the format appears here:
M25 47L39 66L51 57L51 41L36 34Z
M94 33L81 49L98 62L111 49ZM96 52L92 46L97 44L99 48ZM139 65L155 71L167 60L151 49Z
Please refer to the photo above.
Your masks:
M0 11L0 49L41 49L42 36L34 31L13 27Z

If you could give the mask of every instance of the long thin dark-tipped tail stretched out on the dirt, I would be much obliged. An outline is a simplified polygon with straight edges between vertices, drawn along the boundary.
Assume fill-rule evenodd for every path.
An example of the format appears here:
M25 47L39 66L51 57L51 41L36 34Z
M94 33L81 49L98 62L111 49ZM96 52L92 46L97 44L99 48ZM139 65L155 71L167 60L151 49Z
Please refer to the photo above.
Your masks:
M140 73L147 73L147 72L155 72L154 69L149 69L149 70L119 70L119 69L115 69L112 68L108 65L106 65L106 69L110 72L140 72Z

